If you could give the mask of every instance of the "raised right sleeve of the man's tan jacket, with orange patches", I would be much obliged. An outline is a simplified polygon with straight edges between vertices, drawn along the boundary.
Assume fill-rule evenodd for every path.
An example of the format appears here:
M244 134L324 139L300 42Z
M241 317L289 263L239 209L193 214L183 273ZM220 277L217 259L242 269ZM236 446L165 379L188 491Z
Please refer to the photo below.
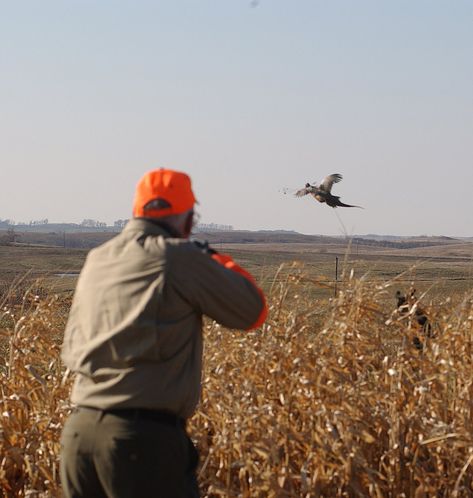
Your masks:
M264 323L268 309L263 291L230 256L189 243L170 262L172 285L200 313L228 328L250 330Z

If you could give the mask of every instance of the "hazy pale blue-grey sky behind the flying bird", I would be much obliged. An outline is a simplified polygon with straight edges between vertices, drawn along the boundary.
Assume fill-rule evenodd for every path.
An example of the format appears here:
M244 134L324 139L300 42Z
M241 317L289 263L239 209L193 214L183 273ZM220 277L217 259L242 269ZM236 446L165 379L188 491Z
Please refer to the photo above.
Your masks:
M253 3L253 5L256 2ZM202 222L473 236L472 0L0 0L0 218L113 222L188 172Z

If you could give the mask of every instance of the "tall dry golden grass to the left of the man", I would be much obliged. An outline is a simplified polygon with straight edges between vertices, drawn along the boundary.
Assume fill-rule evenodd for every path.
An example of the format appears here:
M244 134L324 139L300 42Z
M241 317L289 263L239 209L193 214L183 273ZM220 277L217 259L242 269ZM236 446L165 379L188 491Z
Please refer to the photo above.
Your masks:
M0 310L0 496L60 496L59 437L69 409L59 349L69 300L13 289Z

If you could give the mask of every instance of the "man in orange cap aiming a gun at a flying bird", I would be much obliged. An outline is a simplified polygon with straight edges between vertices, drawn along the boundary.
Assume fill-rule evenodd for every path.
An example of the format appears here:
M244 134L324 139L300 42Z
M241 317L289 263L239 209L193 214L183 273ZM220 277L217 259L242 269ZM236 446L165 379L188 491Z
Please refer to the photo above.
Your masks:
M61 439L67 498L198 496L185 421L200 395L202 316L251 329L267 307L229 256L188 240L194 203L186 174L147 173L134 218L87 257L62 350L77 373Z

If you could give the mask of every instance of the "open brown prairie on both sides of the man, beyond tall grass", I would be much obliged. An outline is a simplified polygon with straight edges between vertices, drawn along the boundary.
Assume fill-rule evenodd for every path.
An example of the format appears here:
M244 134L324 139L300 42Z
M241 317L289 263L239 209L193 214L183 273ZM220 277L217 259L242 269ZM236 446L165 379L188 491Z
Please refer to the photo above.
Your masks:
M328 237L289 236L279 241L280 235L255 237L251 242L240 242L240 234L197 234L209 239L212 247L228 252L242 265L259 277L264 286L273 283L278 268L278 277L283 278L294 265L306 278L318 279L320 288L311 286L317 297L331 297L337 288L353 274L365 281L395 280L401 289L412 282L418 291L427 292L429 299L462 294L473 288L473 243L455 240L411 242L373 245L373 241L357 239L343 240ZM110 238L109 233L71 234L75 244L97 244ZM77 236L77 239L74 239ZM310 242L303 241L312 239ZM246 237L248 238L248 236ZM251 239L250 239L251 240ZM417 245L416 245L417 244ZM7 285L15 278L26 277L28 281L40 280L56 291L72 290L88 249L53 246L0 246L0 285ZM337 263L338 260L338 263ZM338 264L338 271L336 266ZM336 275L337 273L337 275Z

